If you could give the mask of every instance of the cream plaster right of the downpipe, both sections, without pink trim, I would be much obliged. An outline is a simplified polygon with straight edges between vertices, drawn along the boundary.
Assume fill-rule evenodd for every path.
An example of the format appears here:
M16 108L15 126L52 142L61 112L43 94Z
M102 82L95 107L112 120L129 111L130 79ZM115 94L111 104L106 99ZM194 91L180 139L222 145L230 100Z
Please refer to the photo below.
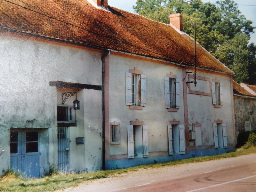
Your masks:
M183 68L162 64L159 62L146 61L136 57L122 57L110 54L109 60L109 123L120 123L120 141L118 145L109 145L109 159L126 158L127 125L130 121L143 121L148 125L148 151L149 156L169 154L168 130L169 121L180 121L185 124L184 99L183 99ZM138 68L147 77L147 106L143 110L132 110L126 106L125 72L129 69ZM168 112L165 108L164 77L173 73L180 79L180 108L178 112ZM197 72L197 76L209 78L210 81L198 80L197 87L190 84L192 91L206 92L209 96L189 93L187 88L188 105L188 131L192 130L193 124L202 126L202 145L200 149L214 149L213 126L218 119L227 124L228 146L234 146L234 131L232 118L232 100L229 76L217 73ZM211 81L213 79L223 83L223 106L214 108L212 105ZM189 79L191 81L193 79ZM188 74L184 81L188 81ZM186 103L186 102L185 102ZM198 132L199 128L197 128ZM111 139L110 132L108 139ZM198 135L196 136L198 138ZM188 143L188 138L186 139ZM189 144L188 144L189 145ZM193 145L191 145L193 146ZM209 147L208 147L209 146ZM187 148L189 149L189 148ZM194 150L191 148L190 150ZM121 156L122 155L122 156Z

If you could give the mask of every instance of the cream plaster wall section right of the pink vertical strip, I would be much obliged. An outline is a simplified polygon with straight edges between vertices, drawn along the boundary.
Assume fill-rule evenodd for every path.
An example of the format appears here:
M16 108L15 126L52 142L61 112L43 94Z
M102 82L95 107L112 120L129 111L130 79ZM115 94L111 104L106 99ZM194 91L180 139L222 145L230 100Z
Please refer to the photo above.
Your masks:
M190 84L190 90L210 93L210 96L191 94L187 86L188 97L188 127L192 130L193 124L201 124L202 126L202 144L203 146L214 145L213 140L213 123L220 119L227 124L227 139L229 145L234 145L234 131L231 105L231 87L228 76L221 76L212 73L197 72L197 77L204 77L210 79L209 81L199 80L197 86ZM223 105L221 108L214 108L212 104L212 92L210 89L213 80L220 81L223 84ZM191 79L190 79L191 80Z

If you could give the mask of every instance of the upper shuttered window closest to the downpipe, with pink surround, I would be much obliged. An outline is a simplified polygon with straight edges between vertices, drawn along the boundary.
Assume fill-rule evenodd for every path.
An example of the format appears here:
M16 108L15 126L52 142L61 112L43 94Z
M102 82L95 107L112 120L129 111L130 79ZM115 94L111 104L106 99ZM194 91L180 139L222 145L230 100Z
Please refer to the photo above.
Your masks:
M146 75L142 71L126 72L126 105L146 106ZM142 109L131 107L131 109Z

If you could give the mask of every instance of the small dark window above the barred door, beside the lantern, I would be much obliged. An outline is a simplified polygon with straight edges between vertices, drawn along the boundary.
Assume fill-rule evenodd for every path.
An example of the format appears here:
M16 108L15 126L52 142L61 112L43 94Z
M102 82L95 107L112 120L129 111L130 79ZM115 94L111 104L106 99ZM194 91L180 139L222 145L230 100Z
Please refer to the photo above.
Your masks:
M57 121L75 121L73 107L57 106Z

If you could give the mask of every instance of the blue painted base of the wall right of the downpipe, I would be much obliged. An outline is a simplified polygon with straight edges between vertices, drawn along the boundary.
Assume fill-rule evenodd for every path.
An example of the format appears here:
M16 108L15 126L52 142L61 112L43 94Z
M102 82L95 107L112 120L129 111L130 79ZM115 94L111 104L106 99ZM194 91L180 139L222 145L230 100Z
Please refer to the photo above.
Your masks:
M219 148L219 149L203 149L203 150L191 150L188 154L184 155L170 155L170 156L155 156L155 157L142 157L142 158L133 158L133 159L119 159L119 160L110 160L106 161L106 169L121 169L128 168L137 165L144 164L153 164L153 163L162 163L168 161L175 161L181 159L188 159L192 157L199 156L212 156L212 155L220 155L224 153L228 153L234 150L232 148Z

